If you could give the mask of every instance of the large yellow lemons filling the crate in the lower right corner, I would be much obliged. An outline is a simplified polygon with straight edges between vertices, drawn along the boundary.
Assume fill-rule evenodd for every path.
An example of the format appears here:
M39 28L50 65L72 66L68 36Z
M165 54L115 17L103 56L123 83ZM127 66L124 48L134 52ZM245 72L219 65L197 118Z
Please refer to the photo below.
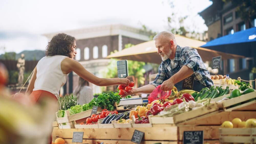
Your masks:
M250 118L242 121L240 118L234 118L232 121L224 121L221 125L223 128L256 128L256 119Z

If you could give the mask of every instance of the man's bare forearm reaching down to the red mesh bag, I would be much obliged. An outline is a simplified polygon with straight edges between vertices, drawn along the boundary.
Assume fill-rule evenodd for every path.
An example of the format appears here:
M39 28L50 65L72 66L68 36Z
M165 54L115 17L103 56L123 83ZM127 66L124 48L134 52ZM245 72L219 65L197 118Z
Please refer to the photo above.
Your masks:
M192 69L190 69L188 66L184 65L176 74L174 74L172 77L170 77L169 80L173 81L174 84L186 79L190 75L192 75L194 72Z

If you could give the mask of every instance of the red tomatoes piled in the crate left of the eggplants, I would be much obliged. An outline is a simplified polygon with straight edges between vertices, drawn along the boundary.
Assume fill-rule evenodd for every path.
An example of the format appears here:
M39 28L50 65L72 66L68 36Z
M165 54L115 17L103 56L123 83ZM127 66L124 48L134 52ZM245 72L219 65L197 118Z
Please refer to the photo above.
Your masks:
M102 119L102 118L105 118L106 116L108 116L109 114L118 114L118 112L115 110L115 111L108 111L107 109L103 109L102 112L98 115L96 114L92 114L91 117L88 117L86 119L86 122L82 122L80 123L80 125L93 125L93 124L98 124L98 120L99 119Z

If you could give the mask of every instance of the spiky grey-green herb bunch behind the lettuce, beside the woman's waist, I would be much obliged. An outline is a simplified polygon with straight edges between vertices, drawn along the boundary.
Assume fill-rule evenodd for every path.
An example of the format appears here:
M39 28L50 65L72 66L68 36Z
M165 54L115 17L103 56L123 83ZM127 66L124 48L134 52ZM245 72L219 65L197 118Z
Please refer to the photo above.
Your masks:
M58 99L60 110L68 110L71 106L77 105L77 96L72 93Z

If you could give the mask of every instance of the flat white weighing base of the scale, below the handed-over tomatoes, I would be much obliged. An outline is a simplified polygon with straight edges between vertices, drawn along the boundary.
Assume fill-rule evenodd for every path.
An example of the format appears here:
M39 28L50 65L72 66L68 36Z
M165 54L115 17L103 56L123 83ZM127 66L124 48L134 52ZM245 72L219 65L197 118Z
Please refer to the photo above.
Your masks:
M137 107L139 105L144 105L148 103L147 97L139 97L139 98L125 98L120 99L120 105L123 107Z

